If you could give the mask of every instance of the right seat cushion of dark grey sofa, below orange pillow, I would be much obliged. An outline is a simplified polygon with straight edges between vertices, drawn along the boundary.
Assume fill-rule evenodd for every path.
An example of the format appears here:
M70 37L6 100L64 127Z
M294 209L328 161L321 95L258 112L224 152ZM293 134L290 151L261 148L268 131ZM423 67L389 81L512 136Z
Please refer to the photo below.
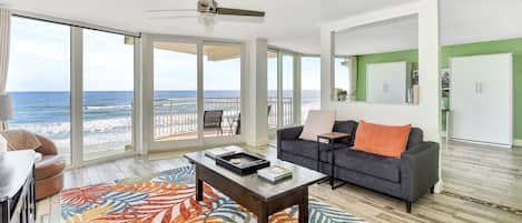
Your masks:
M355 150L335 151L335 165L383 180L400 182L401 160Z

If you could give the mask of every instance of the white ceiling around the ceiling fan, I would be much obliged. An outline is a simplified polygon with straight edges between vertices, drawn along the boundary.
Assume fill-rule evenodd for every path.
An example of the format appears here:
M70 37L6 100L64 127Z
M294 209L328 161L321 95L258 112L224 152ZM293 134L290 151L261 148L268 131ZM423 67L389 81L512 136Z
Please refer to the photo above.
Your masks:
M318 53L322 23L414 1L420 0L218 0L221 7L263 10L267 13L263 23L221 21L213 32L205 31L196 18L152 20L149 18L155 14L145 11L195 9L196 0L0 0L0 6L132 32L230 39L266 38L274 45ZM522 37L520 9L521 0L442 0L442 42L453 44ZM381 32L386 32L386 29L390 28L383 28ZM392 40L412 37L411 32L393 33L387 36ZM353 41L367 39L360 36ZM390 39L387 42L393 42ZM385 42L363 45L382 45L382 50L397 48ZM360 51L364 50L376 49Z

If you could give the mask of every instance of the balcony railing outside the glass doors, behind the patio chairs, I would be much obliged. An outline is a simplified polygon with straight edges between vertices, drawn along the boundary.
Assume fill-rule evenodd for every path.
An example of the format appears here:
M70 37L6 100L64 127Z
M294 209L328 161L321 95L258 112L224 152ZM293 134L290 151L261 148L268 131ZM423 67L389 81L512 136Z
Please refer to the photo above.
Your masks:
M283 122L293 123L293 99L283 98ZM268 98L268 126L277 126L277 98ZM205 98L204 111L223 110L221 128L225 135L234 135L240 114L240 98ZM154 101L154 136L169 140L180 135L197 133L197 99L175 98ZM213 132L213 134L215 134Z

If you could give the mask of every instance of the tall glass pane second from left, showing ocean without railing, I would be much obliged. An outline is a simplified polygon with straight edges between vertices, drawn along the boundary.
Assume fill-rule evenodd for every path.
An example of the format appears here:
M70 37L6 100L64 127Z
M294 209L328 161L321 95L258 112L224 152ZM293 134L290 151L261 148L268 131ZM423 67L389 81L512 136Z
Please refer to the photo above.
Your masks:
M134 151L134 44L83 30L83 160Z

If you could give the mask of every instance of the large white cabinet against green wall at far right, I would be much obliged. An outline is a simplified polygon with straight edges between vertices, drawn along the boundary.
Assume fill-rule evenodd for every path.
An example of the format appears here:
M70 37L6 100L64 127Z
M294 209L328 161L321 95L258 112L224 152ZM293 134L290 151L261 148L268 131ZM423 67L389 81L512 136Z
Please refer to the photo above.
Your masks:
M512 54L452 58L450 63L452 139L511 146Z

